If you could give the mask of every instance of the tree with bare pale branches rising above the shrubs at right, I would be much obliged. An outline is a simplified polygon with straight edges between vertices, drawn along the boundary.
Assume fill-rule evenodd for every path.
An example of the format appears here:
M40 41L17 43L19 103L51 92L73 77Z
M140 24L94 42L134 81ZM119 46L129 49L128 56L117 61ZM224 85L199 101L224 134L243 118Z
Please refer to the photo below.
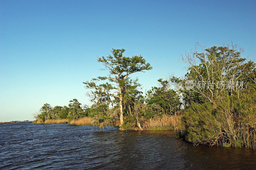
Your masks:
M228 82L234 85L238 81L246 80L245 73L251 63L241 57L244 49L233 44L205 48L197 43L196 47L200 47L201 52L195 49L181 56L181 62L187 64L185 68L188 73L180 82L183 87L186 80L193 80L196 84L195 88L185 92L187 93L185 97L189 94L196 100L208 100L214 103L223 93L228 92L232 95L236 89L230 88L229 85L220 88L220 83Z

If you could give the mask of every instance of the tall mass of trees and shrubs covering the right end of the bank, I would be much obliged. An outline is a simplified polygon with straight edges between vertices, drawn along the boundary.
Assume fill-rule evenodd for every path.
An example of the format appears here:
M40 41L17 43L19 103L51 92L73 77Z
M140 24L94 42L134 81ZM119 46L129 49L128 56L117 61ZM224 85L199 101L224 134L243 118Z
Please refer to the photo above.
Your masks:
M197 44L198 45L198 44ZM172 78L183 87L182 117L179 136L194 144L256 148L256 78L255 63L241 57L237 45L192 51L181 57L188 73L185 78ZM193 80L205 88L185 88ZM243 89L218 88L220 81L243 81ZM207 83L213 86L207 86Z

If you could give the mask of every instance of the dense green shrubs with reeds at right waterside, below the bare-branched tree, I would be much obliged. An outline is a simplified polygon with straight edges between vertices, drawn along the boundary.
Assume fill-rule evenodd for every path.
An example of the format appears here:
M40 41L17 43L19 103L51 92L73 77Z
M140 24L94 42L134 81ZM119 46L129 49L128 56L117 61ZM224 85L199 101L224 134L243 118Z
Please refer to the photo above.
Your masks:
M226 96L215 104L191 103L180 137L194 144L256 147L256 93Z

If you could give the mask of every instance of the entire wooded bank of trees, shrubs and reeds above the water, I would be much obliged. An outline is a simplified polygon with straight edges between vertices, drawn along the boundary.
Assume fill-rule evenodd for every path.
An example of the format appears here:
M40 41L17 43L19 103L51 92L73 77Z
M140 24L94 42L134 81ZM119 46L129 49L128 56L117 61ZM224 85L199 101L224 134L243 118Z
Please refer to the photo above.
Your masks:
M108 74L84 82L90 107L76 99L68 107L44 104L36 119L87 117L94 124L119 122L120 130L174 129L194 144L255 149L255 63L237 45L196 47L180 58L184 76L160 78L146 93L130 75L151 70L150 64L141 55L125 57L124 49L112 49L112 55L98 58Z

